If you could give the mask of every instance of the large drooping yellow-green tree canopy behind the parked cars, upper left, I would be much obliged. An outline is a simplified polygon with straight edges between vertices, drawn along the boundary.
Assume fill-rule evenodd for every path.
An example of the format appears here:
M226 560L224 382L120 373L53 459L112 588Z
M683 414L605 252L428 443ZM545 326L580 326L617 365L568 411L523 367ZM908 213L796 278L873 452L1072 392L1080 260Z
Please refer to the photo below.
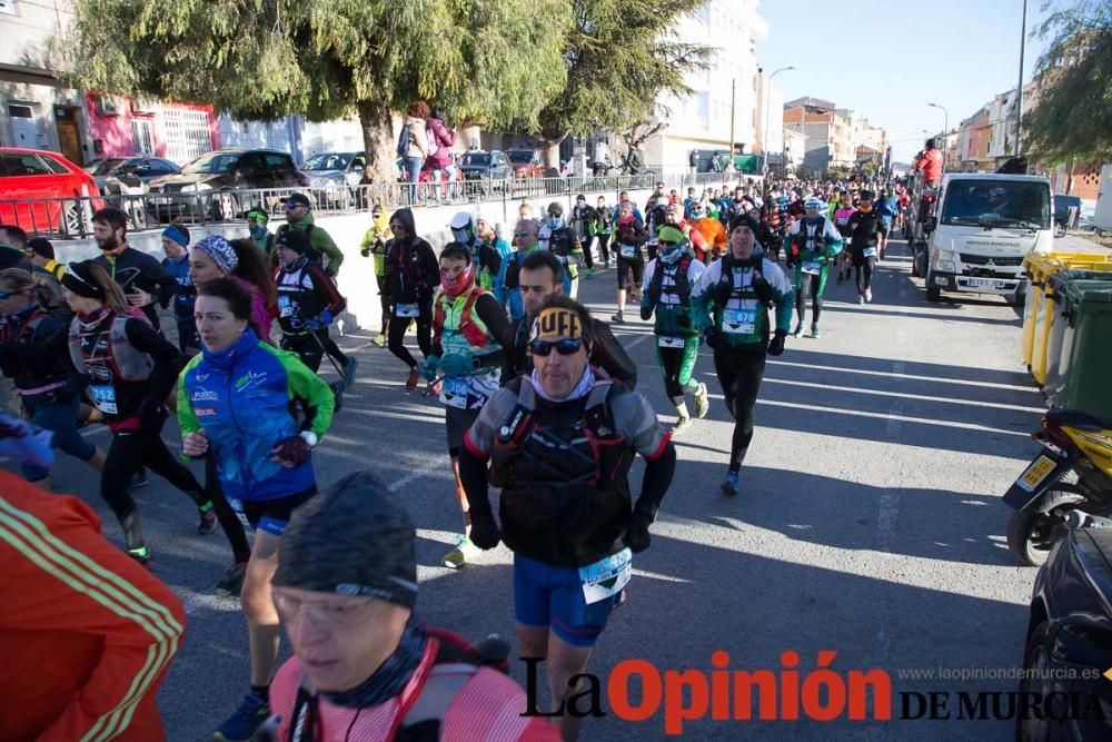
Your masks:
M414 99L539 128L567 79L569 14L569 0L77 0L62 47L89 89L246 119L357 111L393 180L391 113Z

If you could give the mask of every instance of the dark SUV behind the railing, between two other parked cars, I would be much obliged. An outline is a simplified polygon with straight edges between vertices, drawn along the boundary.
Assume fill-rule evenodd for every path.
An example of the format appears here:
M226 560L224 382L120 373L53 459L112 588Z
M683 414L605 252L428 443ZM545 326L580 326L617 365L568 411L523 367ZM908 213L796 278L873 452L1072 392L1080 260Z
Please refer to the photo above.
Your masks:
M177 175L155 178L148 186L148 216L157 221L201 215L234 219L259 205L276 209L290 191L307 188L309 177L288 152L272 149L218 149L201 155ZM245 189L267 189L260 196Z

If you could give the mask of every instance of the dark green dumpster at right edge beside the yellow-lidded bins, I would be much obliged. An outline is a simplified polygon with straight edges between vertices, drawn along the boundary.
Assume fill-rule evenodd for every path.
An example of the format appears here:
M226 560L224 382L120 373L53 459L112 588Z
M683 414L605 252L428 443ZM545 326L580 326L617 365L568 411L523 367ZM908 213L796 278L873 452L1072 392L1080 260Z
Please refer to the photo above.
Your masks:
M1112 280L1073 279L1063 286L1065 323L1051 405L1112 418Z

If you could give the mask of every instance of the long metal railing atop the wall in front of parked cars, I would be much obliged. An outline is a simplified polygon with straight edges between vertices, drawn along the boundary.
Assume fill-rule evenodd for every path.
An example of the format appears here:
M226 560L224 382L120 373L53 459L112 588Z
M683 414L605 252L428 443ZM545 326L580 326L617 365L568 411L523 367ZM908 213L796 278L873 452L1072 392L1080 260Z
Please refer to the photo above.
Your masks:
M388 210L406 206L486 204L529 198L566 198L577 194L613 192L614 201L623 190L651 189L657 182L668 188L728 187L734 182L758 181L754 176L699 172L688 169L649 169L638 175L599 175L562 178L466 177L454 182L434 184L346 184L327 187L282 187L251 189L195 189L173 192L109 194L97 197L3 199L0 222L14 224L31 236L85 238L92 235L92 214L103 206L122 209L132 231L162 229L179 220L189 225L242 221L247 211L264 209L282 215L282 205L294 192L309 197L314 212L325 216L370 211L376 205ZM681 197L685 196L683 190Z

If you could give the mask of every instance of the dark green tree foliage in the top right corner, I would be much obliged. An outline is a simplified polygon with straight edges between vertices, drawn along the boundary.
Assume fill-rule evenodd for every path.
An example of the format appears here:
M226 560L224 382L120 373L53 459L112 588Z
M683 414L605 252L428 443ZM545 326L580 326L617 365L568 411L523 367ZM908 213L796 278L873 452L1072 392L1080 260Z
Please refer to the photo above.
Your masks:
M1050 43L1035 68L1037 105L1024 112L1024 149L1052 165L1112 159L1112 4L1059 8L1037 34Z

